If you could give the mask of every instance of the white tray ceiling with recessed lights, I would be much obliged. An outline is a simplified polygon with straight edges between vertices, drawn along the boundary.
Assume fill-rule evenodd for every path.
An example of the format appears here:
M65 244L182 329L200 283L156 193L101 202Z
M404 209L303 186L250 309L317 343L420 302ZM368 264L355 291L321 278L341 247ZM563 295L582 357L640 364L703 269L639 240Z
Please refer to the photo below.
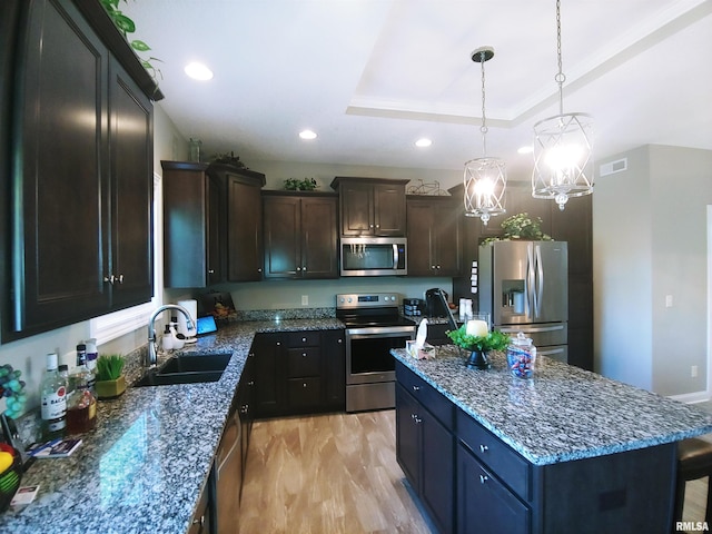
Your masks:
M207 154L462 169L487 154L525 179L532 126L558 112L554 0L136 0L161 60L160 106ZM563 0L564 111L595 118L595 157L645 144L712 150L712 0ZM205 62L208 82L182 68ZM313 141L297 134L310 128ZM429 137L433 145L414 142Z

